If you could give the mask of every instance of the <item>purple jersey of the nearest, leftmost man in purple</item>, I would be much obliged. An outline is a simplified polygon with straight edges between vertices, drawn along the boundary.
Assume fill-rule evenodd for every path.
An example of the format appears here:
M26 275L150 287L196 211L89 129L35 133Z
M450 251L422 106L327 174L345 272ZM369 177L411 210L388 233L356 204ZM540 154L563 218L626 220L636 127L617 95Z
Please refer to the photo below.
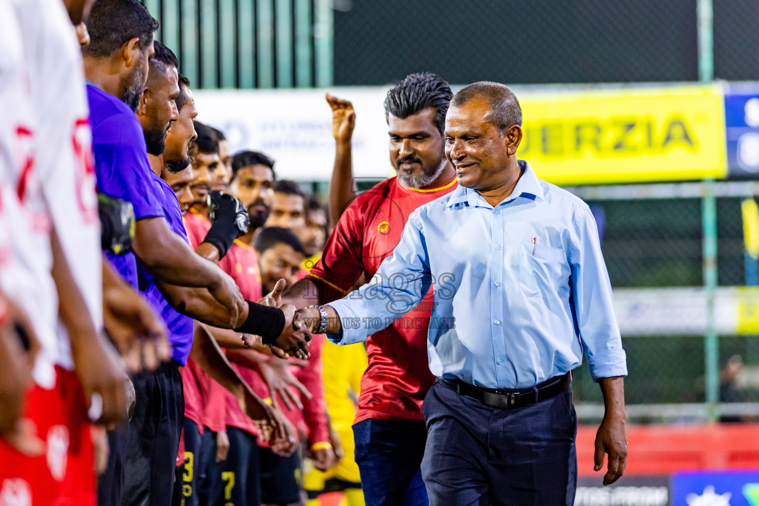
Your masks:
M131 108L118 97L87 84L90 103L95 176L98 190L126 200L134 207L134 218L163 216L163 192L147 161L142 126ZM106 252L114 269L137 288L134 253Z

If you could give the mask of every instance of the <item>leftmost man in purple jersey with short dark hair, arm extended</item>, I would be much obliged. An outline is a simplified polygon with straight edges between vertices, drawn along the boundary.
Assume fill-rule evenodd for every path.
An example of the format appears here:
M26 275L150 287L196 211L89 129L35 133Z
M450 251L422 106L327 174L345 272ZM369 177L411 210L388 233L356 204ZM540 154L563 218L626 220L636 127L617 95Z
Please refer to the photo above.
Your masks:
M207 288L235 325L245 303L228 275L194 255L168 227L159 203L162 189L150 171L146 143L134 111L146 83L158 24L136 0L98 0L83 48L99 190L131 203L137 228L132 247L146 269L164 281ZM132 252L106 252L118 272L137 288Z

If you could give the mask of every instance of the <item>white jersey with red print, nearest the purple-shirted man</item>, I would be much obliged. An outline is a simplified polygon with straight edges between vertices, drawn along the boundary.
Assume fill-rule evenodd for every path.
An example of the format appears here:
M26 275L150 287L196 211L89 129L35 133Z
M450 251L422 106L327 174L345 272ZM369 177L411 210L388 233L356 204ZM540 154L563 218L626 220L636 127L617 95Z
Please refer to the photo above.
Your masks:
M24 0L15 4L37 118L36 170L71 274L99 331L100 226L79 42L61 0ZM58 332L58 350L58 365L73 369L65 328Z

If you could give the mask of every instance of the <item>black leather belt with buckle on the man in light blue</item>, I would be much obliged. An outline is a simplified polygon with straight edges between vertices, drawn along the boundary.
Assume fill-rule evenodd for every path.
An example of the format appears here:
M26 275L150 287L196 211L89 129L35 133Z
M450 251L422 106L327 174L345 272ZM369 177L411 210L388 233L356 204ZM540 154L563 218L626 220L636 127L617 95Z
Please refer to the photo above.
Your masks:
M554 376L529 388L483 388L462 382L460 379L439 378L439 380L459 394L477 399L483 404L513 410L516 407L537 404L567 391L572 385L572 372Z

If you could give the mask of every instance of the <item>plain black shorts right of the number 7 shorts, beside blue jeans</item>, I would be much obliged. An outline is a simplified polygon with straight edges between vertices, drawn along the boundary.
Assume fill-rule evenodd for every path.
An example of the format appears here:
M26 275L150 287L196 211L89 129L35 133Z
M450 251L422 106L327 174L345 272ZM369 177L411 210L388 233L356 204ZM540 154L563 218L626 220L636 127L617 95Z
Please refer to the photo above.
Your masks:
M293 504L301 502L303 489L303 451L280 457L271 448L260 449L261 498L263 504Z

